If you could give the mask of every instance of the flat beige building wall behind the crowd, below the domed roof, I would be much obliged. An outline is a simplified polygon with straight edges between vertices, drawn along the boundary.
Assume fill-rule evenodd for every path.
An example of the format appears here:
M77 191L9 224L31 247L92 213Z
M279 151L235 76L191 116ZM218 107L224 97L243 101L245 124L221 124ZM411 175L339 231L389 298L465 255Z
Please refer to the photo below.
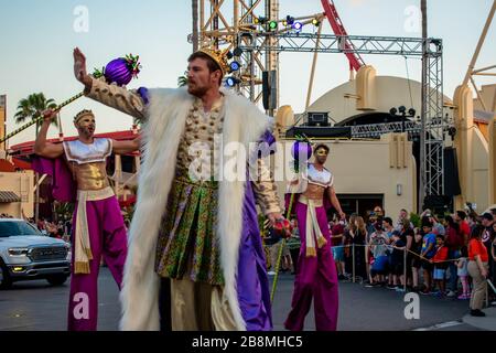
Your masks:
M365 214L380 205L396 217L401 208L416 208L416 163L406 133L384 135L380 140L319 142L331 149L325 167L334 174L334 186L346 213ZM280 197L285 186L278 182Z

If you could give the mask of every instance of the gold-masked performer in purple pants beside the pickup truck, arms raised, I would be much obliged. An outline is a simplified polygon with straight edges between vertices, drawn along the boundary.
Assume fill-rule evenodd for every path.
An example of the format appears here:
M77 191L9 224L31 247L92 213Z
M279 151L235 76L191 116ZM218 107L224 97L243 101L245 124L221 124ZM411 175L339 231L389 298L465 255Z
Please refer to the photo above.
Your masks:
M120 288L127 254L126 227L119 202L108 182L106 160L111 153L138 150L140 139L117 141L96 138L95 115L85 109L74 117L77 139L52 143L46 140L46 133L56 114L50 109L43 114L44 121L34 142L34 152L41 158L63 160L57 164L57 173L68 169L67 175L72 176L76 193L74 200L69 200L76 202L76 207L67 328L72 331L94 331L97 329L100 258L104 257ZM55 179L61 183L61 178ZM79 309L82 306L87 306L87 310Z

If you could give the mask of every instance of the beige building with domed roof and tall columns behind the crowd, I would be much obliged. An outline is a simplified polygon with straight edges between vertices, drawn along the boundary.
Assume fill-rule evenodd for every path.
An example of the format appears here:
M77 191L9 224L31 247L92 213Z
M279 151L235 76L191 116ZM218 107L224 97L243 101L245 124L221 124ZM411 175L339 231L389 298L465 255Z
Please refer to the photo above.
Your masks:
M492 95L493 94L493 95ZM485 96L494 97L494 86L484 87ZM472 103L471 96L470 101ZM492 106L495 105L489 100ZM463 200L477 204L477 210L484 210L489 204L489 136L488 122L474 119L460 126L460 107L456 101L444 96L444 114L455 119L457 132L454 141L446 135L445 147L457 148L459 174ZM474 105L479 108L477 100ZM330 122L334 126L349 122L357 117L368 115L369 124L384 122L384 114L395 107L413 108L420 116L421 84L401 77L376 76L371 66L365 66L358 72L355 81L346 82L317 98L309 106L306 113L328 113ZM471 116L474 109L468 107ZM382 113L382 114L378 114ZM377 119L377 121L374 121ZM295 119L291 109L281 107L278 122L281 130L292 126ZM488 130L489 129L489 130ZM466 132L468 131L468 132ZM466 136L468 136L468 140ZM382 205L389 216L396 217L400 208L417 211L417 167L411 141L393 142L398 135L385 135L380 140L322 140L328 142L331 153L327 168L335 175L335 189L346 208L364 213L377 204ZM457 141L464 139L467 150L460 148ZM320 140L321 141L321 140ZM468 152L467 152L468 151ZM468 153L464 157L464 153ZM400 157L399 157L400 156ZM470 184L464 188L464 183ZM496 189L496 188L495 188ZM279 183L282 194L285 190ZM460 197L457 197L460 199ZM463 204L455 203L455 207Z

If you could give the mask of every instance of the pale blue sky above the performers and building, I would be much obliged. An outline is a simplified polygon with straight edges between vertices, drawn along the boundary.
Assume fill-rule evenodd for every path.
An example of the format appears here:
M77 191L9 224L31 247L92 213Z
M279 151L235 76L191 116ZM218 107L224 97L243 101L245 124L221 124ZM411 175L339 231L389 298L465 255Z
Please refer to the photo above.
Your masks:
M207 1L205 1L207 2ZM228 4L229 0L225 0ZM335 0L339 17L351 35L420 36L408 26L420 0ZM492 0L428 0L429 35L444 41L444 94L453 95L462 82L476 42L490 9ZM84 7L88 31L76 31ZM280 14L293 17L322 12L320 0L280 0ZM226 11L227 12L227 11ZM227 13L227 20L230 13ZM262 15L262 13L257 13ZM406 25L407 24L407 25ZM476 67L495 64L496 24L489 29ZM332 33L328 23L324 33ZM8 131L15 128L18 101L31 93L43 92L56 101L78 93L82 86L73 75L73 47L87 56L88 71L127 53L139 54L143 66L129 88L175 87L191 53L190 0L0 0L0 94L8 95ZM405 58L365 55L378 75L406 77ZM302 111L306 98L312 54L280 55L280 104ZM420 61L408 60L410 78L420 81ZM298 67L298 69L295 69ZM341 54L320 55L312 100L348 79L347 61ZM477 83L494 83L478 78ZM129 129L131 118L80 98L62 110L66 136L74 135L72 117L83 108L97 115L97 131ZM48 136L56 136L52 128ZM10 140L15 145L33 139L30 128Z

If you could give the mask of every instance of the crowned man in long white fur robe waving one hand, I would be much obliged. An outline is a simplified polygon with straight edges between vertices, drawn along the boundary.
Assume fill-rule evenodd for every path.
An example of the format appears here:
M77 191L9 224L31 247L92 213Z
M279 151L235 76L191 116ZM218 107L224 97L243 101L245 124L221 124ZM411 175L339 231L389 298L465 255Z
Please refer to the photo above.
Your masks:
M273 224L282 218L280 202L262 159L255 159L258 180L245 172L249 146L274 141L272 121L220 88L226 66L223 53L201 50L188 57L187 89L127 90L89 76L85 56L74 50L86 96L143 122L122 330L159 330L161 323L172 330L272 329L255 203ZM233 151L234 169L223 160ZM159 297L161 284L168 286Z

